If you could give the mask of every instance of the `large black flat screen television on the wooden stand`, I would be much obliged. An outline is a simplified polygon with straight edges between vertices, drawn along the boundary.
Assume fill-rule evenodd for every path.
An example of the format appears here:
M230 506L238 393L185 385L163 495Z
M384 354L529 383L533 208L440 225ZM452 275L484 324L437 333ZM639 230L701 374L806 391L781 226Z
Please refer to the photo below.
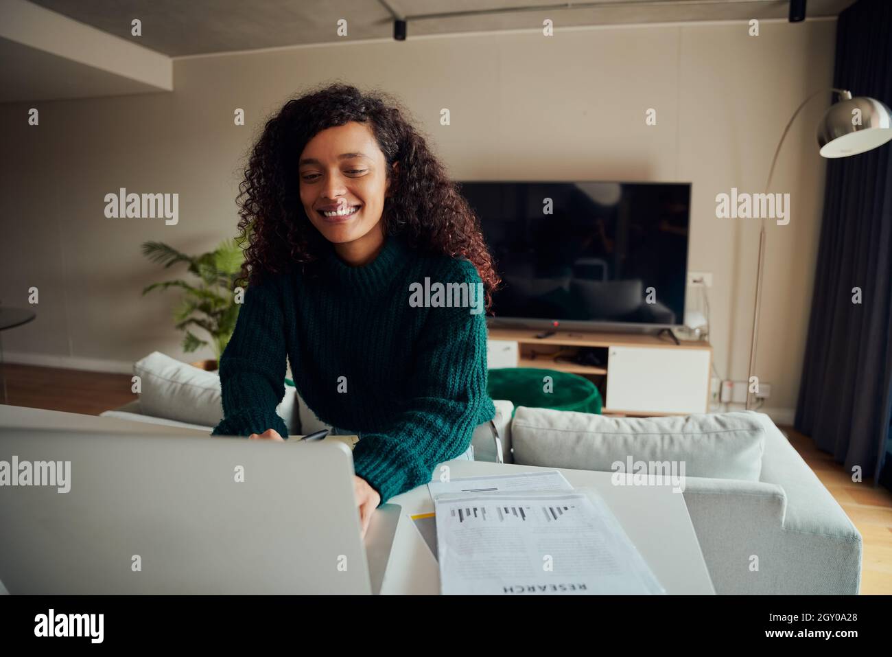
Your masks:
M490 326L650 330L684 321L690 183L458 183L502 287Z

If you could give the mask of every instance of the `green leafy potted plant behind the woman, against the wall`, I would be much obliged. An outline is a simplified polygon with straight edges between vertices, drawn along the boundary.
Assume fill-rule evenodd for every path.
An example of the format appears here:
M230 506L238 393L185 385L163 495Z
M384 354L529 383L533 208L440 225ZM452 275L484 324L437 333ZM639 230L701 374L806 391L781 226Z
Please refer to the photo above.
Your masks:
M178 262L187 264L187 271L197 279L194 285L183 279L153 283L145 287L143 295L153 289L165 290L179 287L184 290L180 304L174 310L176 328L186 331L183 350L192 353L201 346L211 344L216 358L192 363L202 370L217 370L220 355L235 330L238 306L235 303L235 282L240 277L244 252L235 238L230 238L211 251L201 255L186 255L163 242L145 242L143 254L168 269ZM210 336L208 340L196 336L190 327L202 328Z

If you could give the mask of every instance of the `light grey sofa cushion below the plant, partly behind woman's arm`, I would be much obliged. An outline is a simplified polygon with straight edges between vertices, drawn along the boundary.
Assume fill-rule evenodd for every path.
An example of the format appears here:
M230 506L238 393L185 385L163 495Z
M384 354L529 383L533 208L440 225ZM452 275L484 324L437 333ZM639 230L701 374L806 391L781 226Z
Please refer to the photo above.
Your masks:
M133 366L141 379L140 411L156 418L215 427L223 419L223 399L217 372L201 370L161 352L153 352ZM289 434L300 431L296 389L282 382L282 402L276 412Z

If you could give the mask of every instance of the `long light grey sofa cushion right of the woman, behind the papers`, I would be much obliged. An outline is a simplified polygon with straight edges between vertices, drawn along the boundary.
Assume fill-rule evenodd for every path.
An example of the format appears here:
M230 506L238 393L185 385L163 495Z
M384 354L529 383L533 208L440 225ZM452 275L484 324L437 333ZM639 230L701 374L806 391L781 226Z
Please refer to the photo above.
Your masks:
M511 422L514 462L548 468L632 472L675 462L687 477L758 481L765 428L752 411L659 418L611 418L518 406ZM614 466L623 464L622 469ZM656 466L656 467L655 467ZM667 473L669 470L663 470Z

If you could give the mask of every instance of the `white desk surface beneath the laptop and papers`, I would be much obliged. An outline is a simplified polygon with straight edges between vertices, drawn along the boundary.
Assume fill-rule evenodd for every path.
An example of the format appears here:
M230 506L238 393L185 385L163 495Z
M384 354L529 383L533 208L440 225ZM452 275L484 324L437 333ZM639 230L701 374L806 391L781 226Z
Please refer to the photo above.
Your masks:
M207 432L196 429L7 404L0 404L0 425L72 430L123 430L181 436L207 435ZM715 593L697 536L690 523L684 496L681 493L673 493L670 485L617 487L611 483L611 472L591 470L539 468L531 465L480 461L451 461L449 464L452 478L559 470L573 487L590 487L601 495L659 582L665 587L667 594L714 595ZM439 477L437 470L434 470L434 477ZM434 502L428 494L427 487L417 487L397 495L390 502L401 505L403 517L397 528L381 593L383 595L438 594L440 574L437 561L424 538L413 526L413 520L409 519L409 515L434 511Z

